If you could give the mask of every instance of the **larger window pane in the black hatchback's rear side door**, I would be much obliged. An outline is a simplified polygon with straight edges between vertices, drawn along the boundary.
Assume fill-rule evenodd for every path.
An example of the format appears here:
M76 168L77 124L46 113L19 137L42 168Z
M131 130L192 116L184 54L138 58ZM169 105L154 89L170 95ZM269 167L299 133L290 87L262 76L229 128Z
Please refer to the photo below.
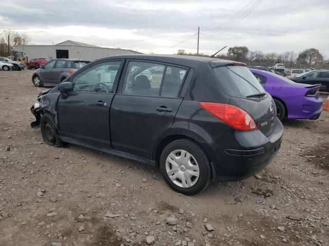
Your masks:
M159 96L164 71L165 65L130 61L124 78L122 94Z

